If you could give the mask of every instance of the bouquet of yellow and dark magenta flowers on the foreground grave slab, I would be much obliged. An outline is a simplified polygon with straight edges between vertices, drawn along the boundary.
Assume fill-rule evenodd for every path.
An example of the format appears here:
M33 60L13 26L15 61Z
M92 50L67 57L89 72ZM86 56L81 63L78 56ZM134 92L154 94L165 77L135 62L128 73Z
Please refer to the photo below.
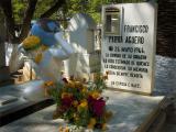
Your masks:
M76 127L105 130L111 112L106 109L108 97L102 97L106 89L105 76L97 74L95 81L78 81L72 77L64 78L64 84L46 82L48 95L56 101L57 108L53 118L63 118Z

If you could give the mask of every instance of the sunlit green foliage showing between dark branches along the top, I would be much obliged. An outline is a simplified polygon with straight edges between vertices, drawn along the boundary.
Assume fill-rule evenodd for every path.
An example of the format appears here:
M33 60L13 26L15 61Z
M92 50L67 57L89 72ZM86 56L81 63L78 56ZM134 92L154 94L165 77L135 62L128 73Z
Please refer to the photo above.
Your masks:
M66 4L51 18L62 20L64 28L66 28L67 18L72 18L75 13L84 12L91 15L97 23L100 23L102 4L143 1L144 0L66 0ZM33 19L38 19L40 15L54 6L55 2L56 0L38 0ZM28 0L12 0L12 6L15 22L21 23L28 7Z

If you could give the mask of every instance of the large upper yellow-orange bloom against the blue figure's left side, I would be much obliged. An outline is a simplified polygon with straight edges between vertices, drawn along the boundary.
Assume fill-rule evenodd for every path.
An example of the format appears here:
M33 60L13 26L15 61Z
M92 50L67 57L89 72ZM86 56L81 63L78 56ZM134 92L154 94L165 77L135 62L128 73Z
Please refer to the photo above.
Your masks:
M40 37L32 35L32 36L26 37L22 42L22 44L23 44L24 50L26 50L26 51L28 50L35 50L35 48L40 47L41 40L40 40Z

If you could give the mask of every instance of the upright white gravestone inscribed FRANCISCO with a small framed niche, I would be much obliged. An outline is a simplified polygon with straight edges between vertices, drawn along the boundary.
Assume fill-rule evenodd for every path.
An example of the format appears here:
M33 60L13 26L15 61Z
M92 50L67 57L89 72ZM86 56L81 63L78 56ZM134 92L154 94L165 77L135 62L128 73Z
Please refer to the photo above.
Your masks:
M154 87L156 4L102 7L102 72L108 87L151 95Z

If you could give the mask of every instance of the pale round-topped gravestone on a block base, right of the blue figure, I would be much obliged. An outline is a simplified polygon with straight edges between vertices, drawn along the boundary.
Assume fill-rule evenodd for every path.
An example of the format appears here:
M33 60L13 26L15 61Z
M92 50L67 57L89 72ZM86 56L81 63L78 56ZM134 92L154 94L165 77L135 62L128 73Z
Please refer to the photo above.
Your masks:
M100 70L100 52L95 50L96 22L88 14L75 14L68 24L68 42L75 50L65 61L67 76L91 78L91 74Z

